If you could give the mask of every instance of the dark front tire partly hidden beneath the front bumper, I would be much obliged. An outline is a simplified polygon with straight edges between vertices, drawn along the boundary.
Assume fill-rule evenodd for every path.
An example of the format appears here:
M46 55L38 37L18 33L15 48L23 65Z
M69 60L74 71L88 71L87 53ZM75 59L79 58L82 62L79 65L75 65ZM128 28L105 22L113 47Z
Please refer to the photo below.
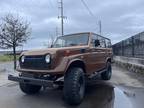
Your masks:
M19 83L19 87L21 91L23 91L26 94L36 94L40 91L41 86L38 85L31 85L26 83Z

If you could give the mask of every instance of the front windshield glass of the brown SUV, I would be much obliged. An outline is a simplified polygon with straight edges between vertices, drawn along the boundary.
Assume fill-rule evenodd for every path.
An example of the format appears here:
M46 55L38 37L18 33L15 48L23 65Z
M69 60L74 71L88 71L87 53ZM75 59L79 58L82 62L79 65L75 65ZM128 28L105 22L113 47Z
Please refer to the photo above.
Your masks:
M71 46L82 46L88 44L88 34L77 34L69 36L58 37L54 43L54 48L60 47L71 47Z

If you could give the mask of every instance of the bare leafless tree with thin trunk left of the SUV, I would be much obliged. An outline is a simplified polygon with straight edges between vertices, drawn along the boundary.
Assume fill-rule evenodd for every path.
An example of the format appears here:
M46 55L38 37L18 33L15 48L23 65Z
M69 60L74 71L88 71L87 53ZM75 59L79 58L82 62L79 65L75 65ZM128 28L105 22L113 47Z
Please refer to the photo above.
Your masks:
M16 69L16 47L22 46L29 39L29 23L20 16L7 14L0 24L0 48L13 49L14 69Z

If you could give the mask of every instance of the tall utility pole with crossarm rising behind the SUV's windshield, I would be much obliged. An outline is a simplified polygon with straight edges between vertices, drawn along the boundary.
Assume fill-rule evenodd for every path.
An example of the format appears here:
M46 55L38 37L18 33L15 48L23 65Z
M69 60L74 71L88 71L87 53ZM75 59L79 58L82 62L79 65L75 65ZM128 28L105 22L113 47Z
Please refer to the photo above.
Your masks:
M61 12L61 15L58 16L58 18L61 18L61 35L63 36L64 35L64 13L63 13L63 0L60 0L59 2L60 6L59 6L59 9L60 9L60 12Z

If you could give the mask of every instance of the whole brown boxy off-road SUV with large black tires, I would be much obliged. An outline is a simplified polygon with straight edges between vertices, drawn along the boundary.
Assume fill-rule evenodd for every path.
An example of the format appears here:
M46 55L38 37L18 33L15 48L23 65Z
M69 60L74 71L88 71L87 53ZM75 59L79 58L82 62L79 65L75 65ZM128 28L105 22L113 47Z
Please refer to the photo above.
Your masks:
M101 74L111 78L112 48L110 39L88 32L58 37L51 48L23 52L19 58L18 81L26 94L34 94L41 87L63 86L64 99L69 104L81 103L85 82Z

